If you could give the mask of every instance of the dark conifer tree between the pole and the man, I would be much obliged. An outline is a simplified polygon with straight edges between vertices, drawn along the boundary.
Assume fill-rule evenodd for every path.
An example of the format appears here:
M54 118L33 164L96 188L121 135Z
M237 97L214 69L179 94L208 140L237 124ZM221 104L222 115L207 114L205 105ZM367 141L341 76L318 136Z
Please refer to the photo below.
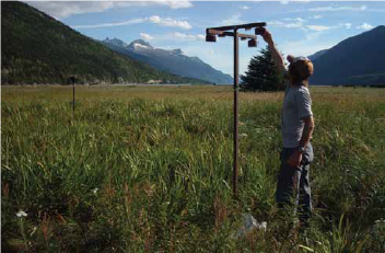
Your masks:
M252 58L245 76L241 76L244 91L280 91L284 90L283 74L277 70L268 47L260 55Z

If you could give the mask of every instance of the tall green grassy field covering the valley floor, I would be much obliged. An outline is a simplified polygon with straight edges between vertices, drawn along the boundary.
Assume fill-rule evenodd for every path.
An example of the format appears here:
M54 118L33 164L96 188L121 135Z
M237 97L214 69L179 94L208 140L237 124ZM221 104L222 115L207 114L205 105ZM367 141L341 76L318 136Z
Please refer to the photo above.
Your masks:
M0 88L0 252L382 252L385 90L312 88L314 217L276 208L283 93L226 87ZM22 211L24 212L22 212ZM242 214L266 232L235 239Z

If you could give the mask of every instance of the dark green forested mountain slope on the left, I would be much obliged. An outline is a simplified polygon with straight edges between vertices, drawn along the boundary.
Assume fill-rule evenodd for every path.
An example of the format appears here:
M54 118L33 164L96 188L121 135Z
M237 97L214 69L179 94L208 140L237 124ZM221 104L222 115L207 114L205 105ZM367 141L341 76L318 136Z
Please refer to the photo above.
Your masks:
M205 83L108 49L16 0L0 1L0 84Z

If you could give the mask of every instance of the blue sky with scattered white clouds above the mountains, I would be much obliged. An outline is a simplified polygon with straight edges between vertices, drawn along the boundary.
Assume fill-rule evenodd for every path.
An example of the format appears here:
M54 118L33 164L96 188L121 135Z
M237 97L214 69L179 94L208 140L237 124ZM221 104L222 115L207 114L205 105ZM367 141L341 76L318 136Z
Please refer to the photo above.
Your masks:
M207 27L267 22L283 54L311 55L385 24L385 0L22 0L96 38L137 38L180 48L233 73L232 38L206 43ZM250 32L250 31L249 31ZM248 33L249 33L248 32ZM258 48L241 44L240 70Z

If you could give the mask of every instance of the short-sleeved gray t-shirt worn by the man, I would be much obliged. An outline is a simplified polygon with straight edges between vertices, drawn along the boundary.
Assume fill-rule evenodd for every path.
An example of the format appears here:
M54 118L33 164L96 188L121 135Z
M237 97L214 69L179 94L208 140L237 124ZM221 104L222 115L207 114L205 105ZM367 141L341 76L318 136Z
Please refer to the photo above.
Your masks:
M313 116L312 99L306 87L288 85L282 110L282 139L284 148L299 147L304 127L303 118Z

